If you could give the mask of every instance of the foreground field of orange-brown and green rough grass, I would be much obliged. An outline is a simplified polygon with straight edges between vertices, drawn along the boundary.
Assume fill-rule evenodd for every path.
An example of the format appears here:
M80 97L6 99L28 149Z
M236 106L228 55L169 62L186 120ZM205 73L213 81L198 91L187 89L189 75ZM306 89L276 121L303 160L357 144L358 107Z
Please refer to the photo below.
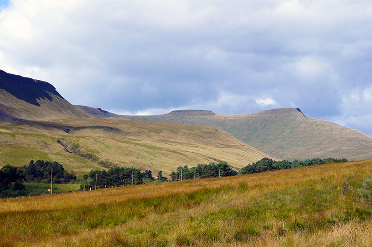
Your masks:
M372 160L0 200L0 246L371 246Z

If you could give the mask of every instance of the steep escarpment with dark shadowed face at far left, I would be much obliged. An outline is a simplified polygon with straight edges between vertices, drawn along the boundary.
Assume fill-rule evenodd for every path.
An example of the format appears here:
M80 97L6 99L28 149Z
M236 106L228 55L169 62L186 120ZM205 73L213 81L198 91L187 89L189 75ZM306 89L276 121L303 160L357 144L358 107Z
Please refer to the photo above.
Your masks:
M52 84L0 70L1 120L59 118L92 117L65 100Z

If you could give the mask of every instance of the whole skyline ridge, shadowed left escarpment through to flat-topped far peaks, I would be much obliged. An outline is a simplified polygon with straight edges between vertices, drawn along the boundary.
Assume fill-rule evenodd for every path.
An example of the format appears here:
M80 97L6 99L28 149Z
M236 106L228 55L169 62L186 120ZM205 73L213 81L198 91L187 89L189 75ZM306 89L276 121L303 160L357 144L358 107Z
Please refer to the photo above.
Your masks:
M0 71L0 121L22 124L58 119L125 118L173 124L205 125L227 131L280 159L372 158L372 137L327 121L309 119L299 108L243 115L207 110L176 110L164 115L121 116L101 108L74 106L48 82Z

